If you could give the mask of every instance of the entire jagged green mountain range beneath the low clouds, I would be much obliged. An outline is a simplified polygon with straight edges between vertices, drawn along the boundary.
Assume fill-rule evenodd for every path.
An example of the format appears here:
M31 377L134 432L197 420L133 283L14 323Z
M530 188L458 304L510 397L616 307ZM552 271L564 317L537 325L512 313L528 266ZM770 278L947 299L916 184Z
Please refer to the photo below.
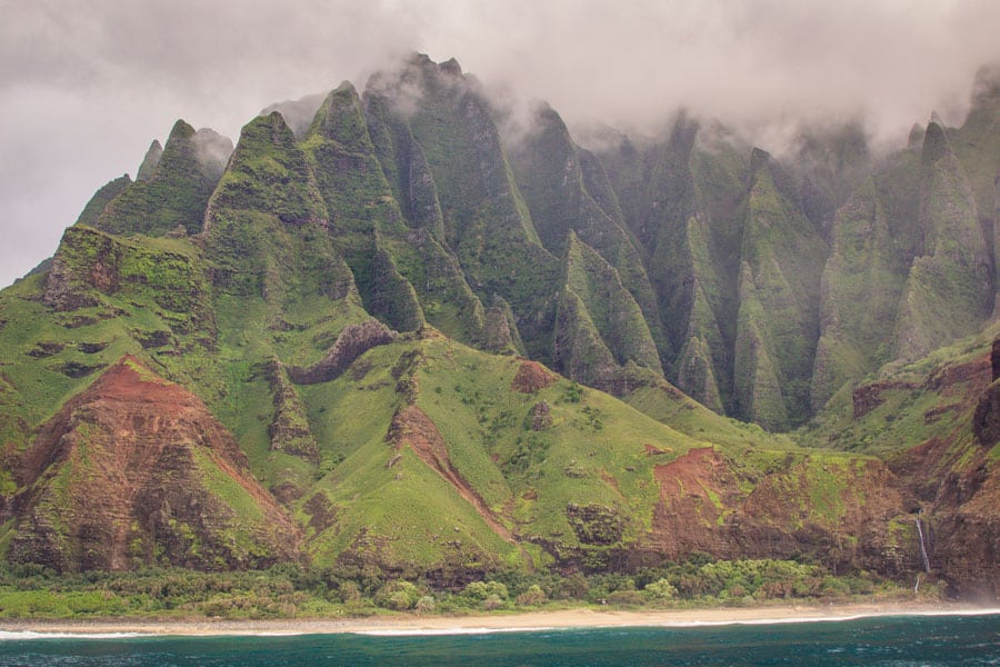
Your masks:
M298 135L277 110L234 149L178 121L0 292L0 554L441 586L700 555L907 578L917 517L934 574L996 596L990 81L964 126L881 160L857 126L779 159L683 115L587 149L541 107L509 138L424 56ZM168 422L193 461L150 488L228 524L147 496L132 522L70 511L130 364L137 447ZM200 420L142 402L163 386ZM57 431L72 456L34 454ZM104 534L113 556L81 537Z

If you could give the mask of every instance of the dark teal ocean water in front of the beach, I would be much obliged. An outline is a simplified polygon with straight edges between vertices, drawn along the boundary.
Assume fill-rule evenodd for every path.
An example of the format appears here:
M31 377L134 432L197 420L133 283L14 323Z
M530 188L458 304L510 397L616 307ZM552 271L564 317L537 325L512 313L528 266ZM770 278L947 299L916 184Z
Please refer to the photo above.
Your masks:
M1000 614L432 634L39 637L0 633L0 665L1000 665Z

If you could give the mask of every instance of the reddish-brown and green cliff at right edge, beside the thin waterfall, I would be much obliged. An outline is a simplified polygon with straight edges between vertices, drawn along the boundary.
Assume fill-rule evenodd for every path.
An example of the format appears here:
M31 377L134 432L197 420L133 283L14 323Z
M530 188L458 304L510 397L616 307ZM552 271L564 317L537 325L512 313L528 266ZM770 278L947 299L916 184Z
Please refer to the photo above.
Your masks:
M912 498L911 516L897 520L901 535L919 520L930 574L953 593L989 600L1000 580L996 329L887 370L854 390L852 406L831 401L813 431L817 444L883 458Z

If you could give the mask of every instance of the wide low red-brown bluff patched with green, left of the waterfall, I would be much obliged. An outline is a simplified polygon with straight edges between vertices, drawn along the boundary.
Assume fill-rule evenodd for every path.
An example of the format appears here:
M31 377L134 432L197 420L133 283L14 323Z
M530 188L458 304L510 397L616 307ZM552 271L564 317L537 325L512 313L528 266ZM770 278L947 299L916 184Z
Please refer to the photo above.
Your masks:
M916 545L901 547L891 532L892 521L906 517L912 500L874 460L820 468L790 457L744 494L739 470L707 448L657 467L656 477L661 500L650 547L667 558L696 551L718 558L808 554L834 568L876 568L890 575L908 570L919 558ZM812 501L792 500L803 495Z

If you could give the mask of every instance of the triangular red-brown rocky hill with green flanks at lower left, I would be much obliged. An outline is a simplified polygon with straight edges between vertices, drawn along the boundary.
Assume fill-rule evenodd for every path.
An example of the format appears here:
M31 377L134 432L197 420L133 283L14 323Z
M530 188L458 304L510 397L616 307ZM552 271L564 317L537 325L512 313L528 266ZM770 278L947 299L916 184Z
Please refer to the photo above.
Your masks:
M59 571L269 567L299 530L192 394L126 357L38 431L10 559Z

